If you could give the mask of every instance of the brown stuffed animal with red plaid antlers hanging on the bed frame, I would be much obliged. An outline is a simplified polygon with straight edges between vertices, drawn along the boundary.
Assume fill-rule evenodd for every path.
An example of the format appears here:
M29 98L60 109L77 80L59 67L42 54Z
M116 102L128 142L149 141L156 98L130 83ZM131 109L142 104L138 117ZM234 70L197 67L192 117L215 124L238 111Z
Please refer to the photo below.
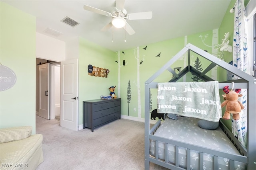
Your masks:
M243 95L238 94L241 89L235 89L235 91L230 91L228 87L229 86L225 86L223 88L223 91L226 93L222 94L225 101L222 102L220 106L224 107L226 105L226 110L222 119L230 119L230 113L232 113L233 119L238 120L240 119L239 113L241 112L242 109L244 109L244 106L242 105L241 102L238 101L238 98Z

